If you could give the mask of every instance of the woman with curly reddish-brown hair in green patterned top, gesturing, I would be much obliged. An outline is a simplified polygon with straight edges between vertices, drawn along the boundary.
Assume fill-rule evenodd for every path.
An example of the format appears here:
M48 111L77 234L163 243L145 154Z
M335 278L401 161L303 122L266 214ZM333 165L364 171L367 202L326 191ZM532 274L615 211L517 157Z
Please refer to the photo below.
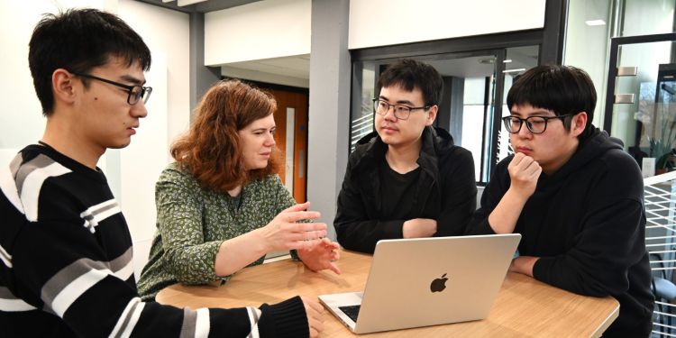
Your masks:
M296 204L275 173L276 108L272 96L238 80L202 98L155 187L158 229L138 283L143 300L175 283L224 283L270 251L341 272L338 243L322 239L326 224L303 222L319 213Z

